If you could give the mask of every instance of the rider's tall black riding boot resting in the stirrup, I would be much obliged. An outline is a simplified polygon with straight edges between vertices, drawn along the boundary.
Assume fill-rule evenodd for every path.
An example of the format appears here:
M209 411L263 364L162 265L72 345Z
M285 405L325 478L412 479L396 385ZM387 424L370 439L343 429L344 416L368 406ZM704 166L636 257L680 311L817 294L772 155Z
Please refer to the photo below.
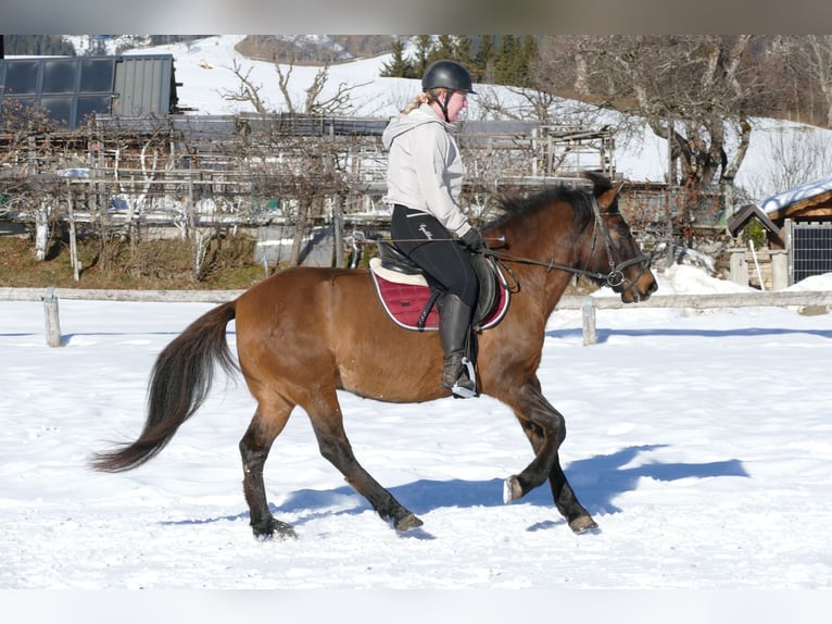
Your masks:
M446 295L439 311L439 338L445 362L442 366L442 387L461 399L477 396L474 362L466 357L470 339L472 310L456 295Z

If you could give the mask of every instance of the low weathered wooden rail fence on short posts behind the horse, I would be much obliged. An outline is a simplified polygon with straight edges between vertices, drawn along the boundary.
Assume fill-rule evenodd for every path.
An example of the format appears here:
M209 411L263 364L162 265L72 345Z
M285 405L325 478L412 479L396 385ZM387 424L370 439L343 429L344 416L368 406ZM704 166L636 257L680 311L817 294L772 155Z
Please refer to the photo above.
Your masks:
M58 300L88 301L151 301L179 303L222 303L242 295L243 290L98 290L78 288L0 288L0 301L43 301L46 338L50 347L61 346L61 323ZM597 341L595 316L597 310L639 308L811 308L828 312L832 307L832 291L761 291L724 292L713 295L654 296L639 303L623 303L618 297L565 296L556 310L581 310L583 313L583 344Z

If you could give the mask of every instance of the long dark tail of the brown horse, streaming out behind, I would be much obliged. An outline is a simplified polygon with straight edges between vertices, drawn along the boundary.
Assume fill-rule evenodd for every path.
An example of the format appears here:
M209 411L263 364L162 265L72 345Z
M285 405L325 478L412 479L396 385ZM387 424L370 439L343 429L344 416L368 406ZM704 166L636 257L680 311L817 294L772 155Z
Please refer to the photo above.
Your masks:
M112 451L96 453L93 469L124 472L153 459L207 397L218 362L229 375L237 371L226 341L226 325L236 315L229 301L191 323L159 354L148 386L148 420L139 438Z

